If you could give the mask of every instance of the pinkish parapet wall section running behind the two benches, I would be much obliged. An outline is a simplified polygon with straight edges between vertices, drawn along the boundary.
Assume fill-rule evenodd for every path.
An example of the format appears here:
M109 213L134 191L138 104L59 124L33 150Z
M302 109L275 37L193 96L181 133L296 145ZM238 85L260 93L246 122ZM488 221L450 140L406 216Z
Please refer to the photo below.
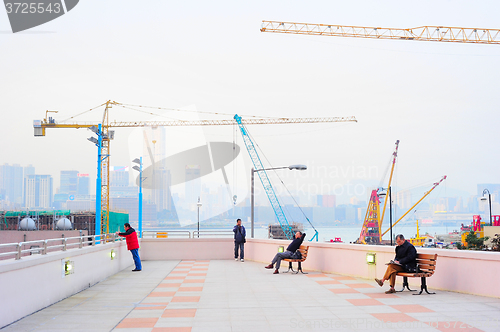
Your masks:
M245 244L245 258L269 264L279 246L285 249L290 241L249 239ZM382 278L386 262L395 256L394 247L362 244L304 242L308 245L304 270L337 273L360 278ZM429 288L500 297L497 286L500 275L500 252L418 248L423 254L437 254L436 272L427 280ZM376 264L366 262L366 254L376 254ZM297 263L294 263L296 266ZM284 262L282 267L287 267ZM397 282L402 281L398 277ZM409 278L413 289L420 290L420 278Z

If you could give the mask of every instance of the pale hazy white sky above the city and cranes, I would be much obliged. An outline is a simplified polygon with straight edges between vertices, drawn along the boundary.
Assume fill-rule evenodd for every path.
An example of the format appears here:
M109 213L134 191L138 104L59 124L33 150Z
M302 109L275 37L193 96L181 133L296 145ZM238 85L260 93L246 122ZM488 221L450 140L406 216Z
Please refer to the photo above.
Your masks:
M38 174L52 174L56 187L60 170L95 178L89 131L54 129L35 138L33 120L58 110L53 116L62 121L111 99L243 117L354 115L358 123L249 129L273 166L309 166L300 178L283 173L292 187L315 184L321 193L349 181L376 183L399 139L398 187L428 185L446 174L448 188L475 193L477 183L500 183L499 45L259 29L264 19L500 28L499 12L497 1L84 0L52 22L12 34L0 9L0 164L33 164ZM117 120L149 118L111 112ZM102 109L75 121L101 118ZM117 130L112 165L135 157L130 132ZM231 127L205 134L233 140Z

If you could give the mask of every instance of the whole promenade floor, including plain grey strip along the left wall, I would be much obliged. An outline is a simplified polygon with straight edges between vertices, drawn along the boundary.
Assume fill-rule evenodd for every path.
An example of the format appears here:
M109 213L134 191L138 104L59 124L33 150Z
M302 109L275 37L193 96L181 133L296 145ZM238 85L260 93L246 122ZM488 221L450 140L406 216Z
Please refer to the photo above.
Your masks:
M500 331L498 298L387 295L373 280L273 275L250 261L146 261L143 271L131 269L2 331Z

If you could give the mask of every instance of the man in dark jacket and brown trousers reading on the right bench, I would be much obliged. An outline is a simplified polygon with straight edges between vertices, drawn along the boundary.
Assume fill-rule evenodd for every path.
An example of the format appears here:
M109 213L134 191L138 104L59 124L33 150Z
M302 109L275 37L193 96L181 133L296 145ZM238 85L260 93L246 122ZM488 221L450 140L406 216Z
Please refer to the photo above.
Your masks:
M389 280L391 288L385 292L386 294L396 293L394 289L396 273L401 271L415 271L417 268L417 250L413 244L406 241L402 234L396 236L396 244L396 258L394 258L394 264L389 264L387 266L387 270L382 280L375 278L375 281L380 287L382 287L384 281Z

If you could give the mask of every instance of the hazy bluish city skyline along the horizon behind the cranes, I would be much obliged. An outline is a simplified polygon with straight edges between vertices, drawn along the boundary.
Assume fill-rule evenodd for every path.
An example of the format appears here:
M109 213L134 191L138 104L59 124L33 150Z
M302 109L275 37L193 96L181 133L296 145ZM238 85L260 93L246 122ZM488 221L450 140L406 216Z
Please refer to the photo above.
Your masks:
M21 173L24 171L24 176L19 174L19 171L21 170ZM74 200L75 196L78 197L95 197L94 193L89 192L89 183L90 179L88 174L80 173L77 170L63 170L60 172L60 181L59 181L59 187L54 185L52 183L52 178L53 176L51 175L41 175L41 174L36 174L35 173L36 167L33 165L29 165L26 167L22 167L18 164L15 165L1 165L0 166L0 200L1 201L7 201L9 203L17 204L18 207L26 207L26 185L27 185L27 180L29 182L29 179L32 181L40 176L44 176L47 178L47 181L50 181L50 190L52 191L52 195L54 197L54 202L57 201L56 197L59 196L62 201L66 201L68 199ZM199 175L196 175L198 173L192 173L193 171L196 171L199 173L199 167L195 165L191 166L186 166L186 184L185 184L185 194L180 196L179 194L175 194L175 198L177 201L180 199L186 200L188 197L191 198L196 198L201 195L203 192L205 197L210 197L211 194L216 194L215 192L212 193L209 188L206 186L201 187L201 183L197 181L190 181L190 177L194 175L194 179L198 178ZM13 182L7 182L6 179L11 177L11 174L17 174L17 187L12 186ZM137 196L137 187L135 187L135 181L129 178L129 170L127 166L115 166L112 167L111 172L110 172L110 192L111 196L113 197L136 197ZM21 179L22 177L22 179ZM50 179L50 180L49 180ZM38 180L39 181L39 180ZM197 183L197 184L196 184ZM22 188L20 188L22 186ZM127 189L130 188L130 189ZM257 200L256 204L257 205L267 205L267 200L262 198L265 198L263 195L263 190L259 190L259 187L257 186L256 188L256 196L260 196L260 201L259 199ZM477 210L478 206L480 205L478 203L478 199L483 197L483 191L489 190L489 193L492 194L491 201L493 204L493 210L497 210L500 208L498 199L500 195L500 184L477 184L477 191L475 194L469 193L468 197L462 197L462 196L457 196L457 195L451 195L451 196L436 196L431 198L432 201L434 201L434 205L437 206L442 206L444 208L436 208L436 210L442 210L442 212L465 212L465 210ZM162 191L162 190L168 190L166 188L162 188L160 190L153 190L153 191ZM394 198L393 198L393 204L398 206L400 209L408 209L410 205L414 204L416 200L419 198L417 195L413 194L414 190L397 190L396 188L394 190ZM219 194L224 192L223 186L219 186L217 189ZM9 199L9 195L7 193L17 193L13 201ZM197 194L198 193L198 194ZM150 195L150 197L146 200L153 202L153 204L158 205L155 201L155 196L157 195L164 195L164 194L159 194L156 193L155 195ZM22 202L23 204L19 205L20 200L19 197L22 197ZM223 197L224 194L221 196ZM339 196L334 195L334 194L312 194L312 195L307 195L311 196L308 198L309 201L313 201L312 203L308 202L306 204L300 202L298 203L299 205L303 206L318 206L318 207L337 207L340 205L359 205L359 206L366 206L367 200L363 199L358 199L357 196L350 196L349 203L346 204L346 202L339 202ZM359 196L359 195L358 195ZM16 198L17 197L17 198ZM71 197L71 198L69 198ZM486 196L484 196L486 197ZM33 198L32 198L33 199ZM95 198L94 198L95 199ZM227 198L223 198L227 199ZM303 199L303 197L298 197L299 200ZM219 198L220 200L220 198ZM242 206L248 206L248 200L249 196L247 196L244 199L244 204ZM282 201L282 204L285 205L287 204L284 202L283 199L280 199ZM314 200L316 200L314 202ZM50 200L50 204L52 204L52 200ZM196 202L196 199L195 199ZM297 203L297 202L295 202ZM168 209L168 206L163 206L163 203L159 205L159 210ZM194 204L194 203L193 203ZM422 204L427 204L429 205L429 199L427 201L424 201ZM33 205L33 204L32 204ZM292 204L294 205L294 204ZM182 207L189 208L189 204L187 202L182 203ZM36 207L36 206L33 206ZM499 211L500 212L500 211Z

